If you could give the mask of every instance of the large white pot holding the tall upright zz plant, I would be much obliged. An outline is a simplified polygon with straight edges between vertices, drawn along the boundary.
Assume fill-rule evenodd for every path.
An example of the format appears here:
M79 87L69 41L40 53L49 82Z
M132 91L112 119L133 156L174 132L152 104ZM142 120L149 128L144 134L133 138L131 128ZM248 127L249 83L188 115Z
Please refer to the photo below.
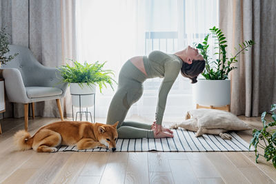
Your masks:
M198 79L193 85L193 95L199 105L230 105L230 80Z

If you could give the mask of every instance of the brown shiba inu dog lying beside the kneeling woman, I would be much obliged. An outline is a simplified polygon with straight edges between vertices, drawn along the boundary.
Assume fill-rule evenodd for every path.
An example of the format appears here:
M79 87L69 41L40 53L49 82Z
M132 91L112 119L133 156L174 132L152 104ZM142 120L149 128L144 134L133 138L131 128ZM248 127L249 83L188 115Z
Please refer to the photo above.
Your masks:
M14 134L14 145L19 150L56 152L59 145L76 145L78 150L103 147L116 150L117 125L83 121L59 121L41 127L34 136L25 130Z

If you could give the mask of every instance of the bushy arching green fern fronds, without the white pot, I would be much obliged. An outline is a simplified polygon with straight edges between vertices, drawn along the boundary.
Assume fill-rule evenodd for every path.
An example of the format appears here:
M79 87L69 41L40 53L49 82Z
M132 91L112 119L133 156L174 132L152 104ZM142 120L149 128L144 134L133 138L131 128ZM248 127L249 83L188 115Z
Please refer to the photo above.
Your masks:
M81 88L83 88L84 84L90 87L97 84L99 85L100 92L103 86L107 88L106 84L109 84L112 90L114 90L112 83L116 83L116 81L112 79L112 76L115 74L112 70L103 69L106 62L99 63L99 61L97 61L91 64L87 62L81 64L77 61L70 61L74 63L72 66L67 63L58 69L59 72L61 72L61 76L63 77L62 81L64 83L69 83L69 85L70 83L79 83Z

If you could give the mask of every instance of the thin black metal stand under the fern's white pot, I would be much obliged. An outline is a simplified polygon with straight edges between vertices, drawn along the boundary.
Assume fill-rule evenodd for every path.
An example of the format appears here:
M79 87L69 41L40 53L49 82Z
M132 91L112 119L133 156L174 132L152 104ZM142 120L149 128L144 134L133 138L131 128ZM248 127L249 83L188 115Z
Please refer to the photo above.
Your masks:
M74 120L74 106L72 105L72 119L73 121L77 121L77 115L79 114L79 120L82 121L82 113L85 113L86 115L86 121L88 121L88 114L90 114L90 119L92 121L92 114L91 112L88 112L88 108L86 108L86 111L81 111L81 96L86 96L86 95L93 95L94 96L94 105L93 105L93 119L94 121L92 121L92 123L95 123L95 93L91 93L91 94L71 94L72 96L79 96L79 111L76 112L76 120Z

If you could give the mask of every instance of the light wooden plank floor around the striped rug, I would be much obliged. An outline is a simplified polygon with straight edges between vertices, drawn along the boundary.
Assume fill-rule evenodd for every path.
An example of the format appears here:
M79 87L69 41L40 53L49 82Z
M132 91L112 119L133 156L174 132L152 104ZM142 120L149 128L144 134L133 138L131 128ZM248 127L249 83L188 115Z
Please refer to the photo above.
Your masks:
M260 118L240 119L261 127ZM30 133L54 121L30 119ZM276 183L272 163L256 164L254 152L17 152L12 135L23 122L0 121L0 183ZM249 142L252 133L238 134Z

